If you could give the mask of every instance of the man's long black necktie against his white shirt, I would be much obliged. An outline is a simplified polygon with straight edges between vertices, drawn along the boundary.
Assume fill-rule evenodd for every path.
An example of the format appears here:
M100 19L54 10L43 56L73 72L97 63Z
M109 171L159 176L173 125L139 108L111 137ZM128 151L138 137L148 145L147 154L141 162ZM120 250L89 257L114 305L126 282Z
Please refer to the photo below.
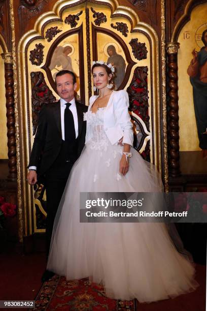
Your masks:
M65 141L72 142L76 140L76 131L74 125L74 117L72 111L69 109L71 103L65 103L66 108L64 110L64 134Z

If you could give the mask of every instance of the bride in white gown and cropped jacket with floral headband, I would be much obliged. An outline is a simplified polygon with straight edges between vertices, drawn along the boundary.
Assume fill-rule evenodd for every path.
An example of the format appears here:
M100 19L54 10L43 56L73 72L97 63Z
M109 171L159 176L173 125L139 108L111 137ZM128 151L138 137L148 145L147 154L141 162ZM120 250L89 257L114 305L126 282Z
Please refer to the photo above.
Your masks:
M47 269L67 279L89 277L108 297L151 302L194 290L194 267L178 253L162 223L80 223L80 192L160 192L151 164L130 149L125 90L112 91L113 67L92 66L99 96L89 102L86 144L56 215ZM118 141L123 137L123 146ZM132 157L131 157L132 155Z

